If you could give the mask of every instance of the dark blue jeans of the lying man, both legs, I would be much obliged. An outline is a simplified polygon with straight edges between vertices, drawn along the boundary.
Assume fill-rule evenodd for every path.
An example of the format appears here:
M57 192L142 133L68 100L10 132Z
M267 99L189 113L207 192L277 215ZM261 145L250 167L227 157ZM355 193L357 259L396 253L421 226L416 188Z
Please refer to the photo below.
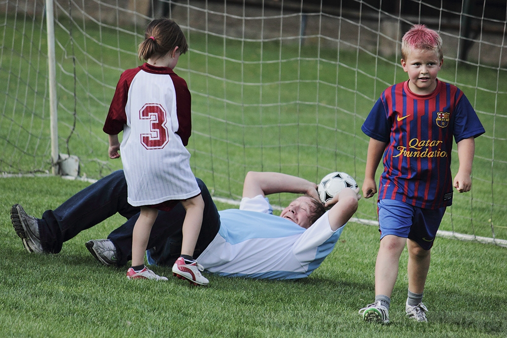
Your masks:
M220 216L206 184L196 178L204 200L201 232L194 257L208 246L220 228ZM113 172L69 198L55 210L46 210L39 219L41 244L46 252L58 253L63 242L75 237L108 217L119 213L127 221L107 238L116 246L119 265L132 257L132 230L139 216L139 208L127 203L127 182L123 170ZM185 208L178 203L171 211L159 211L153 224L148 249L158 265L171 266L179 256Z

